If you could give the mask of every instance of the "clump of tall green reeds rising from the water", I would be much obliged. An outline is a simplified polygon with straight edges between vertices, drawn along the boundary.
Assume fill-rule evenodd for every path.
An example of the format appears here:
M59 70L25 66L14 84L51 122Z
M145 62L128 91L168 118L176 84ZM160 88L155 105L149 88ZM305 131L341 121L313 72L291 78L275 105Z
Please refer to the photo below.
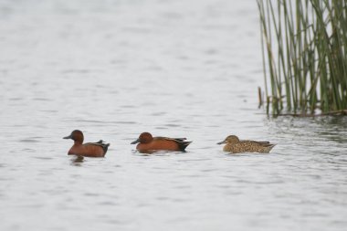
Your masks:
M257 2L267 112L346 111L346 0Z

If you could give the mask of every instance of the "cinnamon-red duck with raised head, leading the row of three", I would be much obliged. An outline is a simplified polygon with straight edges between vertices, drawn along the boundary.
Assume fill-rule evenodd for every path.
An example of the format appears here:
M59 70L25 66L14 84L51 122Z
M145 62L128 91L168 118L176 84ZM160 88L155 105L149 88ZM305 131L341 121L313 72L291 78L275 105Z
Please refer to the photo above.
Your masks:
M105 143L102 140L99 142L87 142L83 143L84 137L82 131L72 131L70 135L63 139L71 139L74 144L68 151L68 155L79 155L87 157L104 157L110 143Z

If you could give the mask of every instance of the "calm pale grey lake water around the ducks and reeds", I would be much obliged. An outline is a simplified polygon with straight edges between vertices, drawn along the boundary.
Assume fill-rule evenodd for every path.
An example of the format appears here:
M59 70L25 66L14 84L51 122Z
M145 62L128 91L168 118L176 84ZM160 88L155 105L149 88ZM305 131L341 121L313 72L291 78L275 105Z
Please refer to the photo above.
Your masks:
M258 110L258 26L254 0L0 0L0 230L346 230L347 119Z

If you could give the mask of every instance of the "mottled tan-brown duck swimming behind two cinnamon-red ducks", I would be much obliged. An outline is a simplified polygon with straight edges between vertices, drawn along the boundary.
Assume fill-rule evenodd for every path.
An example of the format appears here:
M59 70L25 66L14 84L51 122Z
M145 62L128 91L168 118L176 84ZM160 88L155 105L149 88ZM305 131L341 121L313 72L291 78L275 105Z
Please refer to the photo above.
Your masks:
M259 152L268 153L276 145L270 142L256 142L256 141L240 141L236 135L229 135L223 142L217 144L226 145L223 147L224 152L240 153L240 152Z

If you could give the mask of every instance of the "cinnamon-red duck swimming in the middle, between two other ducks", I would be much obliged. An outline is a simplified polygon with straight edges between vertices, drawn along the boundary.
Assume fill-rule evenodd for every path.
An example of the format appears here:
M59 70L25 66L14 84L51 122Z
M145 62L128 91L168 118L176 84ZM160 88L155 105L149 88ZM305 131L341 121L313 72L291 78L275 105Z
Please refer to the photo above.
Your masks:
M136 149L139 152L155 152L155 151L177 151L185 152L185 148L191 142L184 142L185 138L168 138L168 137L152 137L150 132L142 132L134 142L138 143Z

